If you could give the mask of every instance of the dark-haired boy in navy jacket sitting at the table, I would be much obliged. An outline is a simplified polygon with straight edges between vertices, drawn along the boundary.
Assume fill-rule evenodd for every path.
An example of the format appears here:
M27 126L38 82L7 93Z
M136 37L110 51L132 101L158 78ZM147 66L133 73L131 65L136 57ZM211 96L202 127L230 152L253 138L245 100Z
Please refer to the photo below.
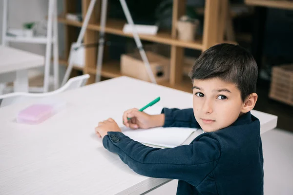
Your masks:
M215 45L189 75L193 109L164 108L154 116L130 109L123 120L132 129L194 127L205 133L189 145L151 148L126 137L109 118L95 129L104 147L138 174L179 179L177 195L262 195L260 123L250 113L257 100L253 57L240 46Z

